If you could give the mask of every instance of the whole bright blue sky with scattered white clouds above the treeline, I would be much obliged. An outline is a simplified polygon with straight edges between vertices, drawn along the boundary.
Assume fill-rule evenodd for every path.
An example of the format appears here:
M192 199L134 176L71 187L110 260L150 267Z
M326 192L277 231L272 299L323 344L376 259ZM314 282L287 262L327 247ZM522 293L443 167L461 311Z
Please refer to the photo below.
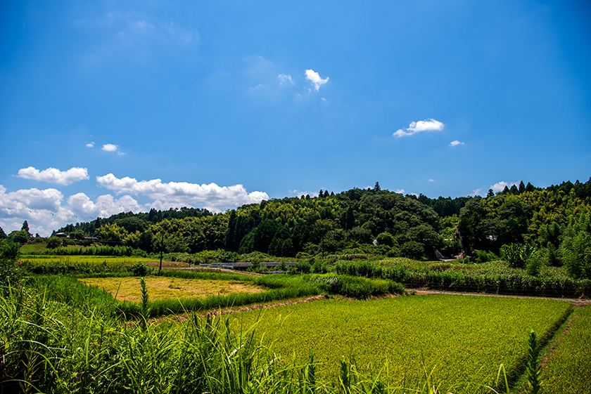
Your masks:
M588 1L3 1L0 227L591 176Z

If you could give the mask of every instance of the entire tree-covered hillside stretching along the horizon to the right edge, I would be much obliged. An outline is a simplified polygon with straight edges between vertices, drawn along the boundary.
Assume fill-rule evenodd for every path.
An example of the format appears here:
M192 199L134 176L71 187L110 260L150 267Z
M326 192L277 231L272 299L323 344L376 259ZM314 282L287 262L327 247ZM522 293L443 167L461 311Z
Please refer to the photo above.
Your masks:
M567 249L591 256L590 211L591 179L549 188L522 182L497 195L489 190L487 197L455 199L404 196L376 183L338 194L321 190L319 197L271 199L224 214L186 207L122 213L58 232L148 252L225 249L292 257L324 252L424 259L435 258L436 250L444 256L502 254L504 245L533 245L558 264L568 259Z

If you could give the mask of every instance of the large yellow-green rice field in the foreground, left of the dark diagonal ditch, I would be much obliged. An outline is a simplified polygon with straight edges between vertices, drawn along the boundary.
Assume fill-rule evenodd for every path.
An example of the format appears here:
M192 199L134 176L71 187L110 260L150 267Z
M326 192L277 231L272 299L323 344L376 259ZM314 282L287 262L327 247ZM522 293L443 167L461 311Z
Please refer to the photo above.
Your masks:
M542 337L570 310L556 300L429 295L300 303L239 313L233 323L256 324L287 362L314 353L333 375L341 360L355 360L393 386L416 387L430 374L442 393L488 393L500 365L516 374L530 329Z

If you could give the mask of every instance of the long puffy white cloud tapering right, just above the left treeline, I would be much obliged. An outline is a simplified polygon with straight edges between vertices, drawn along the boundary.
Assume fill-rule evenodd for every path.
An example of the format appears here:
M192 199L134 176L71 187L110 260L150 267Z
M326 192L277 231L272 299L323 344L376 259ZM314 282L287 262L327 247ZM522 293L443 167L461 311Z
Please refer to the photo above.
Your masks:
M243 185L218 186L215 183L198 185L187 182L163 183L160 179L141 180L135 178L117 178L112 173L97 176L96 181L104 188L115 190L117 194L131 193L146 195L159 202L167 202L171 206L192 206L202 204L211 209L224 210L255 204L269 199L265 192L247 193Z

